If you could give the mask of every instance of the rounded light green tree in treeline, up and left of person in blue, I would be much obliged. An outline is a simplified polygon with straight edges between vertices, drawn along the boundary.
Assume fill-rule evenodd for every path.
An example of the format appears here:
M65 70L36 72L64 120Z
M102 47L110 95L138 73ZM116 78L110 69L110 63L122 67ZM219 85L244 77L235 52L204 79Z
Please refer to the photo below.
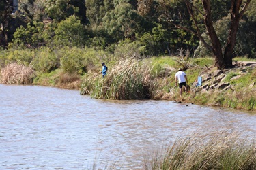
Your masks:
M54 39L57 46L83 47L86 41L86 30L78 18L70 16L59 22Z

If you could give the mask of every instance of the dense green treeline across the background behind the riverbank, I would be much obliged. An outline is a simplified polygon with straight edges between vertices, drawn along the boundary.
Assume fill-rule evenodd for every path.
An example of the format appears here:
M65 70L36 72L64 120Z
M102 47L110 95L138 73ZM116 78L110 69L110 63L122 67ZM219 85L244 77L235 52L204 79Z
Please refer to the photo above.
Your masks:
M224 46L231 1L210 3L214 28ZM193 7L198 12L195 19L201 20L197 27L210 43L201 19L201 0L193 1ZM256 0L251 0L240 20L234 56L256 58L255 9ZM177 54L181 48L190 55L209 56L198 37L175 27L195 30L189 12L185 0L19 0L16 12L13 1L5 0L0 2L0 46L2 50L76 46L114 52L117 43L130 39L141 46L144 56Z

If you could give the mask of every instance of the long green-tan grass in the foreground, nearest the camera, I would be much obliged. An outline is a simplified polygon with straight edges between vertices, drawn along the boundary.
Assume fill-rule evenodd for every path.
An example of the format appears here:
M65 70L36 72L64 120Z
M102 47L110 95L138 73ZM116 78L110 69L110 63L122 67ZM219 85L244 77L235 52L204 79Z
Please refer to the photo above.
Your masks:
M145 169L256 169L255 139L238 134L179 137L163 156L145 160Z

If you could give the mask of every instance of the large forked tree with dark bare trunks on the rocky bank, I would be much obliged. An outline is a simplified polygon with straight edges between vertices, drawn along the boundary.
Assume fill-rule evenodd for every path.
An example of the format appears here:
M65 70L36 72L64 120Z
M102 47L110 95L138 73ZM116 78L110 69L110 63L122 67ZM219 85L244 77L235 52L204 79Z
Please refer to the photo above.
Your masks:
M168 6L165 0L160 0L163 6ZM186 7L190 14L190 18L193 21L194 27L188 28L184 27L181 24L176 24L173 22L173 15L170 15L170 12L165 8L162 14L162 20L167 20L169 23L175 25L175 27L179 29L184 29L190 33L196 35L200 41L204 44L204 46L214 54L215 63L218 69L223 68L231 68L232 58L233 58L233 48L236 43L236 35L238 33L239 22L246 12L248 5L251 0L231 0L231 7L229 10L230 13L230 27L228 31L228 36L226 39L226 44L224 47L224 52L222 51L222 46L220 40L216 34L214 29L214 21L212 18L212 4L210 0L201 0L201 5L203 7L203 11L199 10L199 7L193 4L193 1L182 0L186 3ZM201 29L199 28L200 20L198 20L196 14L201 14L203 16L203 24L208 32L208 36L210 37L211 44L208 44L205 39L202 37Z

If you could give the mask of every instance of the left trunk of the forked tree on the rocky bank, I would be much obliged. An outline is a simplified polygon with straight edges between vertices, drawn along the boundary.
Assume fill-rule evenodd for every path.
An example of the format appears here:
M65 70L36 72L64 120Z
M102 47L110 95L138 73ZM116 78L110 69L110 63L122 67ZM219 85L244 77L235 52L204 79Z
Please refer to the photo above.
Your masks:
M225 60L223 58L223 53L221 50L221 42L216 35L216 32L213 27L212 16L211 16L211 9L210 9L210 0L202 0L203 3L203 10L205 12L204 22L205 27L208 31L208 35L212 42L212 52L215 56L215 64L218 69L223 69L225 67Z

